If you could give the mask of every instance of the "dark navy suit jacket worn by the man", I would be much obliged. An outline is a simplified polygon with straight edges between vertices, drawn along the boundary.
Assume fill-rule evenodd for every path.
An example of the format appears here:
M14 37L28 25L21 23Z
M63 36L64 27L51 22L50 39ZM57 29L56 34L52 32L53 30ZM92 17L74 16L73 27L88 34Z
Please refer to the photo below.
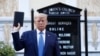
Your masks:
M12 33L12 36L16 51L24 48L24 56L38 56L36 30L24 32L21 38L19 37L19 32ZM46 31L43 56L60 56L57 36L49 31Z

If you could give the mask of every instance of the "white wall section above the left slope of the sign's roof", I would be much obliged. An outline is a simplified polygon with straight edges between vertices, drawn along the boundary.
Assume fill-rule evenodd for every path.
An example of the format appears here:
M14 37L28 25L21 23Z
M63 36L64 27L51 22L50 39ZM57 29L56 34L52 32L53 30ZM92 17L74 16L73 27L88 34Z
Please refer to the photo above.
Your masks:
M66 0L30 0L30 9L37 10L57 2L66 2Z

